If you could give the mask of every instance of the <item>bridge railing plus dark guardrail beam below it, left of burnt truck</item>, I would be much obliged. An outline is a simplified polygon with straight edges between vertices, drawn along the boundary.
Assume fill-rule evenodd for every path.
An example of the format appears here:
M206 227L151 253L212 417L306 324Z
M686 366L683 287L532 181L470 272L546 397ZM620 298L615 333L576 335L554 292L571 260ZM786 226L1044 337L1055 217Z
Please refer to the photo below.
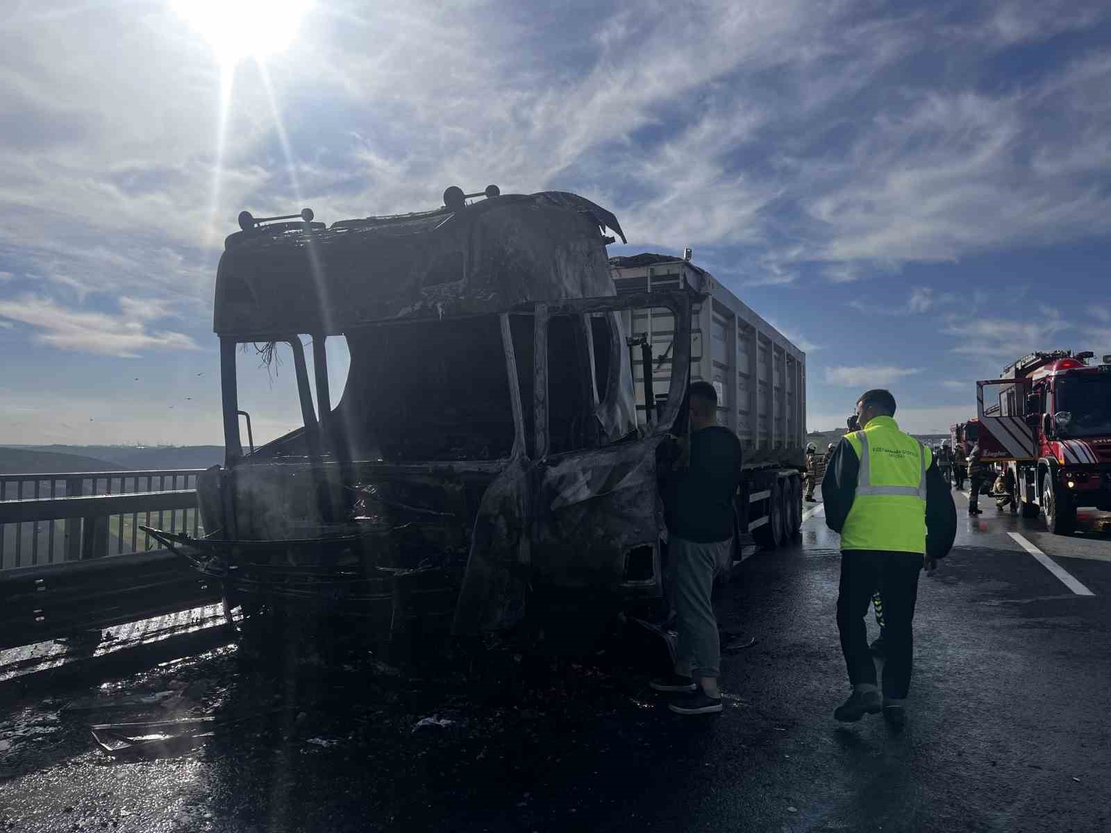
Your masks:
M0 475L0 649L219 601L140 525L204 534L200 469Z

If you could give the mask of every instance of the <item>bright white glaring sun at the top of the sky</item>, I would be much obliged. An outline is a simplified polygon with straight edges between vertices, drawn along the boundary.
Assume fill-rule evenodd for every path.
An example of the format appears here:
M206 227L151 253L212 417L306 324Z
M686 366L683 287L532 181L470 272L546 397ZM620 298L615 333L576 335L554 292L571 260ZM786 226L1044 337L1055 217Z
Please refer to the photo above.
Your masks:
M297 37L311 0L170 0L173 10L234 66L284 51Z

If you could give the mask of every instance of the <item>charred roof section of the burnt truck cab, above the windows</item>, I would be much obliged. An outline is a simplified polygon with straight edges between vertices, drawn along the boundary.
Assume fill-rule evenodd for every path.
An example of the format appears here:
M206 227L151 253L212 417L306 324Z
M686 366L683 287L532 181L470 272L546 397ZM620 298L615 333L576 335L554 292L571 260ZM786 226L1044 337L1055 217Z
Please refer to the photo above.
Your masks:
M213 330L242 341L614 294L617 218L578 194L498 194L412 214L244 228L224 241ZM250 215L247 215L251 220ZM288 219L288 218L278 218Z

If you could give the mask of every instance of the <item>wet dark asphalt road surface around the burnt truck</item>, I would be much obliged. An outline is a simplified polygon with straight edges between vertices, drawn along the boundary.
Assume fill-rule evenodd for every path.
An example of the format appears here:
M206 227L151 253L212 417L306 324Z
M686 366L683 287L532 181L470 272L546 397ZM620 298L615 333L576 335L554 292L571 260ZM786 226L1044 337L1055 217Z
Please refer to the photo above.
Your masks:
M502 658L478 680L367 661L291 665L280 684L228 648L14 704L0 722L0 826L1111 830L1111 536L1093 531L1104 519L1061 539L990 501L977 519L965 505L957 549L921 581L901 734L832 719L849 686L838 536L819 511L801 542L750 559L719 599L723 626L757 640L725 658L721 715L663 709L629 642L578 663ZM146 712L81 700L160 691L174 693ZM149 761L116 760L87 731L271 709Z

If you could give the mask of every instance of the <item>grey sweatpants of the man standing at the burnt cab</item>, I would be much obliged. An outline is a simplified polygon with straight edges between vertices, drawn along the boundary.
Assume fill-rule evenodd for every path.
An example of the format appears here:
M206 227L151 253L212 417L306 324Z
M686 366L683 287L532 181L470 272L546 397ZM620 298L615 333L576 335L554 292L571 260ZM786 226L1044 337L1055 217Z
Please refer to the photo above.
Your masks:
M733 540L698 543L672 535L668 542L668 595L679 631L675 673L721 675L721 638L710 593L714 578L730 566Z

